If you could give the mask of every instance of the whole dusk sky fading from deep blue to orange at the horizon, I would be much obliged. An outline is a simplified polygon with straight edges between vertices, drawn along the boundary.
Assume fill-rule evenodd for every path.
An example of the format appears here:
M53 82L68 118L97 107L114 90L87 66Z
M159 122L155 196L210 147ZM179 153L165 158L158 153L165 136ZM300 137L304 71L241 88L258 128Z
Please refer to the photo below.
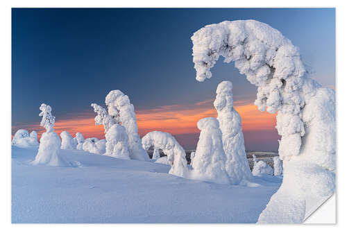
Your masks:
M195 80L190 37L225 20L255 19L278 29L300 48L322 85L335 89L335 9L165 8L12 9L12 135L39 135L41 103L51 105L56 132L103 138L90 103L105 105L112 89L135 107L139 134L170 132L184 148L198 141L196 122L216 117L215 90L234 85L246 150L276 151L276 115L253 105L256 88L220 59L213 77Z

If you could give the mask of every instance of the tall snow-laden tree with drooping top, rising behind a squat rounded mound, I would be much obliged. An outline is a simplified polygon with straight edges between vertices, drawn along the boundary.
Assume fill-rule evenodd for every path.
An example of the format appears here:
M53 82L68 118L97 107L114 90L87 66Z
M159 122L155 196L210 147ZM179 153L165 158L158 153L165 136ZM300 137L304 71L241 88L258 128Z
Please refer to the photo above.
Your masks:
M111 91L105 99L108 106L108 114L119 116L119 122L126 128L130 146L130 158L133 160L149 161L149 155L142 148L141 139L137 133L136 114L134 105L130 103L128 96L119 90Z

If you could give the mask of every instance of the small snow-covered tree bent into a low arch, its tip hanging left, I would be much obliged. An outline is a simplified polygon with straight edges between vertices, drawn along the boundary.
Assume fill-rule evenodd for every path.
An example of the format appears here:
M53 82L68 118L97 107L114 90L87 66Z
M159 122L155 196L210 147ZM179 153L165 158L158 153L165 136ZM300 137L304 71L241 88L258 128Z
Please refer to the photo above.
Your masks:
M142 137L142 146L149 150L151 146L162 149L167 155L167 162L171 165L170 174L187 177L187 160L185 160L185 150L178 144L176 139L167 132L153 131Z

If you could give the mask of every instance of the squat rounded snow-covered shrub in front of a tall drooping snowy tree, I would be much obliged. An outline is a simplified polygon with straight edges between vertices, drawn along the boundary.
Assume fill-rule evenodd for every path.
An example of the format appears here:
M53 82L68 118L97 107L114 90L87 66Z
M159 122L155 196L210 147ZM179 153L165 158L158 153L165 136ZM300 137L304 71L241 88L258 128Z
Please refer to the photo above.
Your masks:
M128 134L126 128L119 124L114 124L106 132L106 153L111 157L130 160Z

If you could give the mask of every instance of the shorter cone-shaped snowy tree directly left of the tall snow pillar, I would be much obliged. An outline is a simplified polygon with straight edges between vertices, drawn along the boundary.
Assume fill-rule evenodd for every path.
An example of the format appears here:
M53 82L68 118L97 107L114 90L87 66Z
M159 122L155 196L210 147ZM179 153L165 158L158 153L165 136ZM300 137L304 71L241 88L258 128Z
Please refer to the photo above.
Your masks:
M223 150L219 122L213 117L198 121L201 130L193 162L192 179L229 184L226 153Z

